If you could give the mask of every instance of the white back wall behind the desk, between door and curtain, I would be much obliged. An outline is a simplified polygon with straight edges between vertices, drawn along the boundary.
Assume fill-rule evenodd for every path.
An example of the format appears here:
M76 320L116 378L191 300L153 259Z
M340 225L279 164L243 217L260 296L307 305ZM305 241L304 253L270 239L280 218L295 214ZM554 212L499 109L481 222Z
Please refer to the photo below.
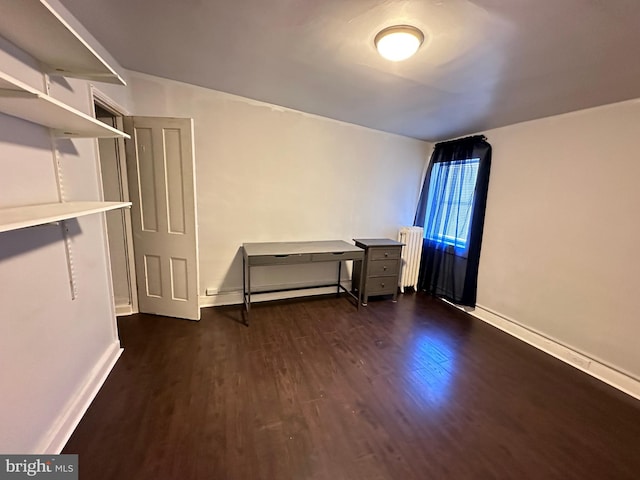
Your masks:
M129 78L136 115L195 120L201 295L241 290L243 242L395 239L412 224L430 144L149 75ZM256 269L252 280L313 283L335 268Z

